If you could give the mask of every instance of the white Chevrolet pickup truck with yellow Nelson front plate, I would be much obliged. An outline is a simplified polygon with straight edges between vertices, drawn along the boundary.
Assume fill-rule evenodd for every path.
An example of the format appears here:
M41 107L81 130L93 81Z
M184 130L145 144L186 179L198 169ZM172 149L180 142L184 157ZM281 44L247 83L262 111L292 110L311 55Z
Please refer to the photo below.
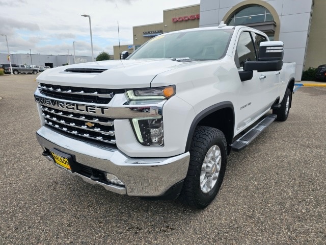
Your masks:
M156 36L123 60L45 70L42 154L109 191L205 208L231 151L288 117L295 63L283 49L221 23Z

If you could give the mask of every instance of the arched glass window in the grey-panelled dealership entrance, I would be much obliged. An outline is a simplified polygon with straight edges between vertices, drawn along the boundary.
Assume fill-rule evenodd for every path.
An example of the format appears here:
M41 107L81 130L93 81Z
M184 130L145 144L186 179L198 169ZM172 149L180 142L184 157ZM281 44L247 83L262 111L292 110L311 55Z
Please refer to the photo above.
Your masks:
M235 12L229 21L227 22L228 26L238 26L241 24L250 24L250 23L259 23L259 22L268 22L274 21L273 15L268 11L268 9L252 5L247 8L241 9L240 11Z

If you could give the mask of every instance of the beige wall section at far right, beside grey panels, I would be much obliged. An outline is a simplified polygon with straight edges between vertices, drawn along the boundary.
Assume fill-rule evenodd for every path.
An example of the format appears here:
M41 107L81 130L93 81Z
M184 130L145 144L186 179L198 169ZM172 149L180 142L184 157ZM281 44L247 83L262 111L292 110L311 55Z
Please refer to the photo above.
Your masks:
M308 50L304 70L326 64L326 1L314 0L309 33Z

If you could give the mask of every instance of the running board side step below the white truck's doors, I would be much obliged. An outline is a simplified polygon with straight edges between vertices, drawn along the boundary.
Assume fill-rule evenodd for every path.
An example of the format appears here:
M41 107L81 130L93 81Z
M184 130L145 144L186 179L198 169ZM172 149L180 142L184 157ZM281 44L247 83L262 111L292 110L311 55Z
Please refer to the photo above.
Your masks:
M242 135L241 138L235 140L232 143L232 150L233 151L241 151L244 149L248 144L251 143L265 128L267 128L273 121L275 121L277 115L270 114L266 116L263 120L259 122L254 128L249 130L246 134Z

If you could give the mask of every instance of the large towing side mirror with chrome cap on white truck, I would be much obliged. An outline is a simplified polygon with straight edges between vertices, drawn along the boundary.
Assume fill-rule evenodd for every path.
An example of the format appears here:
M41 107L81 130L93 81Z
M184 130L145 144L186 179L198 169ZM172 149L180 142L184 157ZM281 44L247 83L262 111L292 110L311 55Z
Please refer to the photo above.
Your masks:
M247 61L243 70L277 71L283 66L284 43L281 41L261 42L259 45L258 61Z

